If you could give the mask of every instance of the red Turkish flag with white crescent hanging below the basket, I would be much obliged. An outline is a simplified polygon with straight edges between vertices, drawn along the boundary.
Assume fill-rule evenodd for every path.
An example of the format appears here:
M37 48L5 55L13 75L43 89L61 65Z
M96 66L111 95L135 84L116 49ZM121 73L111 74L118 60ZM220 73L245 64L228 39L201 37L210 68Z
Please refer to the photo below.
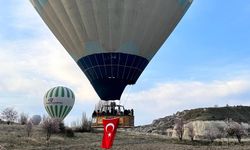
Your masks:
M119 118L103 119L103 138L102 148L110 149L113 145L113 141L116 134L116 129L119 124Z

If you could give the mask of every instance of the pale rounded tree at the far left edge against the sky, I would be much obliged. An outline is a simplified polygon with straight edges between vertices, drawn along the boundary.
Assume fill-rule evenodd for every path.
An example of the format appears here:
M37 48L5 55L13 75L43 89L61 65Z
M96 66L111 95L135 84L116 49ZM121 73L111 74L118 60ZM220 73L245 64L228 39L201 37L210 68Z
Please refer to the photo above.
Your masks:
M5 108L1 113L2 119L7 121L8 124L15 122L18 118L18 112L14 108Z

